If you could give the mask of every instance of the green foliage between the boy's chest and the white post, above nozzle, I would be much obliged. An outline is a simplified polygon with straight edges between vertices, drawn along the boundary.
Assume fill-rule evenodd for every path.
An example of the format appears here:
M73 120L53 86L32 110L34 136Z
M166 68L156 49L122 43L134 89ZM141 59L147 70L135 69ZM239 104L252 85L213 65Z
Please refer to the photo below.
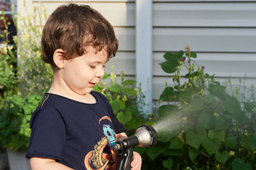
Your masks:
M138 102L143 103L143 93L140 88L136 88L136 81L124 78L123 72L120 76L113 72L109 75L106 73L103 79L104 81L93 89L108 98L118 121L124 124L128 135L133 134L134 130L145 122L138 108Z

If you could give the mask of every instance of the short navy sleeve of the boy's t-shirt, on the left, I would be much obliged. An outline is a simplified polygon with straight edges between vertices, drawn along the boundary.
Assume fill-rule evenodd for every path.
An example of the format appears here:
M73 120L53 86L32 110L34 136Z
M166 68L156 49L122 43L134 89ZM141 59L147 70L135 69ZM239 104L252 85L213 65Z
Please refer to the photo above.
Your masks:
M61 160L65 124L60 113L54 107L45 105L33 114L26 158L43 157Z

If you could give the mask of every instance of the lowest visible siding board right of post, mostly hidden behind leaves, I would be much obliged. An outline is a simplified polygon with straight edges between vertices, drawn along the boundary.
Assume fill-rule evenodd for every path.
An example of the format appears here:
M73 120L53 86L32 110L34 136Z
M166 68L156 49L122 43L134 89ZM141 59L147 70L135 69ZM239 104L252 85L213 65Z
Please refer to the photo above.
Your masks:
M245 87L250 89L251 86L253 85L255 87L256 82L255 79L246 79L246 81L244 82L243 79L239 79L239 78L232 78L230 79L230 81L232 82L233 85L239 86L239 81L242 80L242 86L243 83L245 84ZM180 79L181 84L184 83L184 81L186 81L185 79ZM216 78L216 81L219 81L221 83L227 81L227 79L225 78ZM168 86L174 86L173 81L172 81L172 77L154 77L153 78L153 91L152 91L152 95L153 95L153 100L157 100L157 98L160 97L161 93L163 92L164 88L165 88L165 82L167 82ZM250 93L247 93L246 95L250 95Z

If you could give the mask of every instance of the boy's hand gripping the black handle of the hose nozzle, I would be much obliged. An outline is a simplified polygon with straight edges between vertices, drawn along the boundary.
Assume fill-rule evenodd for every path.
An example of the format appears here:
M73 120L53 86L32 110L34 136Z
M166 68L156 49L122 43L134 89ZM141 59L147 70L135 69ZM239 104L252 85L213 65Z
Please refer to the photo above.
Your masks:
M127 138L127 135L122 132L120 134L116 134L116 141L123 141L123 139ZM141 169L141 156L136 151L133 152L132 162L131 162L131 170L140 170Z

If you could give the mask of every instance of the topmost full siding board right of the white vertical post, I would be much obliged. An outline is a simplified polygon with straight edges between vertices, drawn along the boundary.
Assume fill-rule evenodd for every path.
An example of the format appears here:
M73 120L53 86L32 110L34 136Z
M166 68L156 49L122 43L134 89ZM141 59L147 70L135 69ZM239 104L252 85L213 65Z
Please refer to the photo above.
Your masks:
M154 3L153 26L255 27L256 3Z

